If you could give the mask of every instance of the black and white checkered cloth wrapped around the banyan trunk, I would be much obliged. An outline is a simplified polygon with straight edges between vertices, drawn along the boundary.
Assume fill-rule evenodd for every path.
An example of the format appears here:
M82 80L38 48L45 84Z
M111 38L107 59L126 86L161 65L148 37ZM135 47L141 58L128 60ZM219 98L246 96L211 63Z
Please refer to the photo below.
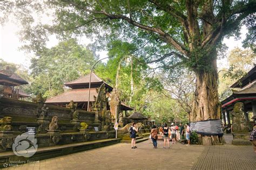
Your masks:
M221 129L221 120L207 120L190 123L190 130L206 136L218 135L223 136Z

